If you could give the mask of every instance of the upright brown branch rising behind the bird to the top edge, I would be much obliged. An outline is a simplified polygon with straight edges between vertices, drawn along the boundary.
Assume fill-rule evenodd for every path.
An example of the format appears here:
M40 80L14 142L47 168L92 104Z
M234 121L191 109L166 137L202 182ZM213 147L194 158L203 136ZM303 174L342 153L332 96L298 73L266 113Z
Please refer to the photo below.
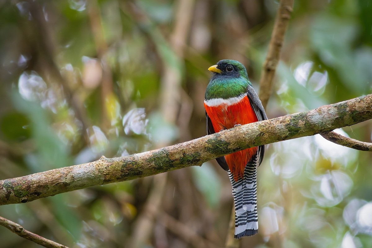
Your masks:
M266 107L272 92L272 81L274 78L276 65L279 62L280 50L283 46L284 34L291 18L292 6L294 0L281 0L276 14L273 33L271 35L269 50L266 60L262 66L260 78L260 100L263 107Z

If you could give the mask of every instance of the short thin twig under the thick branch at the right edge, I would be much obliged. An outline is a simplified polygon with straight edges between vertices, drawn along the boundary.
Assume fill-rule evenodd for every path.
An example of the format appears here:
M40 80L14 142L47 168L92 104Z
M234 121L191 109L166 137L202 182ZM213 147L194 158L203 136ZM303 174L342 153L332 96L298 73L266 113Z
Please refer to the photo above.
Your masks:
M372 152L372 143L358 141L349 137L345 137L336 132L320 133L323 138L331 141L337 145L343 145L360 151Z

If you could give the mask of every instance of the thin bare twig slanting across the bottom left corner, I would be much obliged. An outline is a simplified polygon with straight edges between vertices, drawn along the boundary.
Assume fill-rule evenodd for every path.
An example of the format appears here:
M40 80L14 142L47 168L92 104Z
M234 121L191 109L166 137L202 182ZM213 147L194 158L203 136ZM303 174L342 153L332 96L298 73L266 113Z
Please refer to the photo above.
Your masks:
M49 239L46 239L42 236L39 236L33 232L27 231L24 229L21 225L10 221L8 219L5 219L0 216L0 225L6 227L10 231L14 232L15 234L21 236L22 238L29 239L36 244L42 245L44 247L48 248L68 248L65 245L58 244L57 242L51 241Z

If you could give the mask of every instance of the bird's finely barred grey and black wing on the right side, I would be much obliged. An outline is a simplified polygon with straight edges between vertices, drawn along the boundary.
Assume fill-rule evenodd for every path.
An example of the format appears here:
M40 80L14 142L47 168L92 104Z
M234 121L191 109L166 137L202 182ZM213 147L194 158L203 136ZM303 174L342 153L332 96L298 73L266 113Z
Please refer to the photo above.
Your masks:
M267 116L266 116L265 110L262 106L261 100L259 99L259 97L256 94L256 91L254 91L254 89L251 85L248 85L247 97L249 99L249 102L251 104L252 109L254 110L254 113L256 113L258 121L267 120ZM258 165L260 165L261 162L262 162L263 156L265 155L265 146L264 145L260 145L258 147L257 155L258 155L258 158L256 158L256 159L258 160ZM256 156L253 156L252 159L254 159L254 157L256 157Z

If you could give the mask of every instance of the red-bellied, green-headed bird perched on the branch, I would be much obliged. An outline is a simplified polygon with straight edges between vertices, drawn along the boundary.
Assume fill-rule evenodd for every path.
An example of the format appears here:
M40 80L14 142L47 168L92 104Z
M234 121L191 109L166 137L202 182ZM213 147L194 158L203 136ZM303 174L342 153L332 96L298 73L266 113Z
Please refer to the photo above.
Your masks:
M243 64L223 59L208 70L212 72L204 98L208 134L267 120ZM235 203L234 238L258 232L256 172L264 153L265 146L261 145L216 159L227 171L232 184Z

